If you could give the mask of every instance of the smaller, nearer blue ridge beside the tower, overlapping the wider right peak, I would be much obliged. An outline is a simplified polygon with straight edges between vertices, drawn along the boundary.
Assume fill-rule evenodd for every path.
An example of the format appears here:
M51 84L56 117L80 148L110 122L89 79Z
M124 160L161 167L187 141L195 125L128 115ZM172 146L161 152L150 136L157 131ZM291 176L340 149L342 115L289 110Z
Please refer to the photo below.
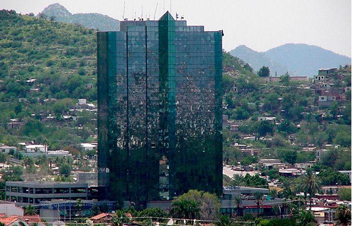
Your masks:
M287 71L289 71L287 66L273 61L272 59L268 58L265 53L257 52L245 45L236 47L236 49L230 51L230 54L244 60L245 62L248 62L250 66L256 71L259 70L259 68L261 68L263 65L268 66L272 76L275 75L275 71L277 71L279 75L285 74Z

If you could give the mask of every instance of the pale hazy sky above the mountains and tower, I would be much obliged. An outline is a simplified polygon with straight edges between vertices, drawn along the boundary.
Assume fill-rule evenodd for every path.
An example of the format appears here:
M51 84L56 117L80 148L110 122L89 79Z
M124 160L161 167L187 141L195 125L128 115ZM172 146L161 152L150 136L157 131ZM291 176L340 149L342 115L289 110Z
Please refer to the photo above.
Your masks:
M171 4L170 4L171 1ZM126 0L125 18L158 19L169 10L189 25L224 30L223 48L266 51L285 43L317 45L351 56L351 0ZM124 0L0 0L0 9L38 14L53 3L71 13L101 13L122 20ZM135 14L134 14L135 12Z

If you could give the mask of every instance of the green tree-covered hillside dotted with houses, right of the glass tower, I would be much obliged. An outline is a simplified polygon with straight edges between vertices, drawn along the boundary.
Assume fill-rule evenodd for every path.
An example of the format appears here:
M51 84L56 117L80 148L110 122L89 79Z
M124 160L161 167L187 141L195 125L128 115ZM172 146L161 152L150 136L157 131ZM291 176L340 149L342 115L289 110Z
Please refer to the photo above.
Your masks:
M238 58L224 53L224 65L238 68ZM232 61L231 61L232 60ZM255 163L257 158L239 151L235 143L254 148L259 158L277 157L290 164L313 161L315 151L304 151L309 145L316 149L331 149L320 162L336 170L350 169L350 91L346 100L335 101L330 107L317 106L318 94L309 88L311 81L291 81L288 74L280 82L263 82L247 69L223 74L224 115L232 123L239 123L236 131L223 129L225 164ZM248 65L249 66L249 65ZM340 67L337 80L341 90L350 86L350 66ZM275 117L275 122L258 121L258 117ZM243 139L255 137L254 141ZM332 144L332 146L326 146Z

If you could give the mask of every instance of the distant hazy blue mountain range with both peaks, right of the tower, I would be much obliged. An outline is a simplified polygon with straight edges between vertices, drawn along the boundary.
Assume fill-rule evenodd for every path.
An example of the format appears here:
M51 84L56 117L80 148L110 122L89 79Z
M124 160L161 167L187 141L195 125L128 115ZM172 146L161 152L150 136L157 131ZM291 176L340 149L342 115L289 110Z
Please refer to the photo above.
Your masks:
M338 67L351 64L351 58L339 55L318 46L307 44L285 44L266 52L256 52L246 46L238 46L230 54L248 62L253 69L269 66L271 75L286 73L310 76L317 74L319 68Z

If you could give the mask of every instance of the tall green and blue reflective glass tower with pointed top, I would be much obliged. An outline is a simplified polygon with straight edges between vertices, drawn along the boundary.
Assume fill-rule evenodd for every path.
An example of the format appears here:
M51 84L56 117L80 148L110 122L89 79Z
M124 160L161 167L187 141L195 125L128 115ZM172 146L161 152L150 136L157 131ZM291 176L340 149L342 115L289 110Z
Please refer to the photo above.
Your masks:
M98 169L111 200L222 193L222 32L124 21L98 32Z

